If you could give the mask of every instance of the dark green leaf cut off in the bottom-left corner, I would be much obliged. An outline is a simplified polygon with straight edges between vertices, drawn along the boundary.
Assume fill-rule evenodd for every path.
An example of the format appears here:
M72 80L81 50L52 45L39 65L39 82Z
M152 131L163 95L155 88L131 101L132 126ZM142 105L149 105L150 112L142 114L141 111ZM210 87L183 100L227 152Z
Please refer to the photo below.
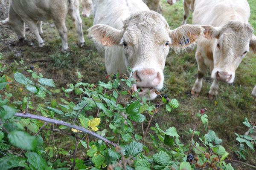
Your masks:
M0 158L0 170L7 170L13 167L18 167L19 162L25 158L19 156L4 156Z

